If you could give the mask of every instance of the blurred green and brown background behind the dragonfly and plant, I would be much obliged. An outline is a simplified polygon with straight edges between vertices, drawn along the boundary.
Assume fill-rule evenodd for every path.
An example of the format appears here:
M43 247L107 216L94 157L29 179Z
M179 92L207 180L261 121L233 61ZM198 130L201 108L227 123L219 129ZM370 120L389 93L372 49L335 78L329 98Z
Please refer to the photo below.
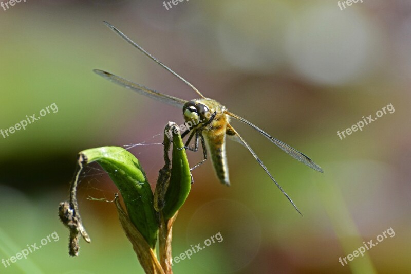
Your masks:
M98 77L99 68L160 92L196 94L102 24L118 27L194 84L274 137L309 155L317 173L233 121L304 217L241 145L227 144L232 186L211 162L193 171L173 232L173 255L221 233L223 241L175 264L175 273L411 272L411 3L364 1L30 1L0 8L0 259L57 232L58 241L1 273L141 273L98 166L82 174L79 206L91 244L68 256L57 207L68 197L77 153L103 145L161 143L181 109ZM393 114L341 140L392 104ZM155 136L155 137L153 137ZM162 145L130 150L154 187ZM188 152L194 165L202 153ZM388 228L378 246L338 261Z

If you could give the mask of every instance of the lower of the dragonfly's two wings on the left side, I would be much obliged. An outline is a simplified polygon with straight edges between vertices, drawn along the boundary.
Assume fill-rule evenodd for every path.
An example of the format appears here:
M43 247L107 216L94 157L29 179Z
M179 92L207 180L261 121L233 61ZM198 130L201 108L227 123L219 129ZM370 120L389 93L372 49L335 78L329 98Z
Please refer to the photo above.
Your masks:
M124 78L121 78L121 77L119 77L117 75L114 75L114 74L110 74L109 72L106 72L106 71L103 71L103 70L100 70L100 69L94 69L93 71L96 72L96 74L104 77L105 79L107 79L111 82L114 82L118 85L124 86L125 88L132 89L132 90L134 90L135 92L137 92L139 94L145 95L145 96L150 97L154 100L157 100L157 101L169 104L169 105L173 105L173 106L182 108L183 105L187 102L183 99L180 99L180 98L177 98L177 97L174 97L174 96L159 93L156 90L147 88L147 87L142 86L140 84L136 84L134 82L128 81Z

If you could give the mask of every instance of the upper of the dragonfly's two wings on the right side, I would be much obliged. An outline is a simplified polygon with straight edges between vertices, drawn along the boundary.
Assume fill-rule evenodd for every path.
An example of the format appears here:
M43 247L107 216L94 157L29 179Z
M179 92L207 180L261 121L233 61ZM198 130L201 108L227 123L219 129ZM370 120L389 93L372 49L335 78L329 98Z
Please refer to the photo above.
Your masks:
M251 127L253 127L253 129L255 129L259 133L266 136L270 141L275 143L280 149L282 149L288 155L292 156L294 159L297 159L298 161L304 163L305 165L307 165L308 167L310 167L310 168L312 168L316 171L323 172L323 170L313 160L311 160L307 155L304 155L303 153L291 148L288 144L283 143L282 141L275 139L274 137L270 136L268 133L261 130L258 126L250 123L246 119L241 118L238 115L233 114L233 113L228 112L228 111L224 111L224 113L227 114L227 115L230 115L231 117L234 117L235 119L237 119L237 120L239 120L239 121L241 121L245 124L248 124Z

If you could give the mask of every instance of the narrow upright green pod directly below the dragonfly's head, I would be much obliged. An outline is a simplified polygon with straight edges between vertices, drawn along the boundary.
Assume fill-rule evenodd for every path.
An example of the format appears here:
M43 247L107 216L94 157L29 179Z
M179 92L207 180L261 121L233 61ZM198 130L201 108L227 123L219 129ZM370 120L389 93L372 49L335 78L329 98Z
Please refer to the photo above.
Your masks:
M171 133L172 131L169 132ZM173 159L170 183L165 193L165 205L163 208L163 214L166 220L173 217L180 209L191 189L192 177L190 166L185 149L182 149L183 147L184 144L181 140L181 135L173 134Z

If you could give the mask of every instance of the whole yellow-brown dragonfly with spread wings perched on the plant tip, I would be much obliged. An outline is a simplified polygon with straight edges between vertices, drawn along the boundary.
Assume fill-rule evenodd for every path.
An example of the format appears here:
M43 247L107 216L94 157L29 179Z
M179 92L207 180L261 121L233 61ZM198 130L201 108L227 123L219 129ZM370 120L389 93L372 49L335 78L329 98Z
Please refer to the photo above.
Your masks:
M207 152L211 154L211 161L213 163L215 174L217 175L218 179L222 184L227 186L230 185L229 179L229 172L228 172L228 165L227 165L227 156L226 156L226 139L232 139L244 145L248 149L248 151L254 156L255 160L259 163L259 165L264 169L264 171L268 174L271 180L275 183L275 185L281 190L281 192L287 197L289 202L292 206L296 209L298 213L301 214L300 210L296 207L292 199L287 195L287 193L283 190L283 188L278 184L278 182L274 179L271 173L268 171L267 167L264 165L263 161L257 156L257 154L252 150L250 145L238 134L238 132L231 126L230 120L234 118L242 123L245 123L251 126L254 130L268 138L271 142L276 144L280 149L284 152L292 156L293 158L297 159L298 161L304 163L306 166L323 173L323 170L308 156L305 154L293 149L288 144L272 137L265 131L261 130L258 126L252 124L251 122L247 121L246 119L231 113L228 109L221 105L214 99L204 97L197 88L195 88L191 83L186 81L184 78L179 76L176 72L174 72L171 68L164 65L160 62L157 58L155 58L152 54L148 53L145 49L141 46L133 42L133 40L129 39L124 33L122 33L119 29L115 26L111 25L110 23L103 21L103 23L117 33L122 39L126 42L140 50L142 53L145 54L148 58L152 59L158 65L160 65L165 70L169 71L175 77L180 79L186 85L188 85L194 92L199 96L198 99L186 101L171 95L163 94L157 92L154 89L150 89L143 85L134 83L132 81L126 80L110 72L94 69L93 71L102 76L103 78L114 82L118 85L121 85L127 89L134 90L135 92L152 98L154 100L179 107L183 111L183 116L186 121L187 129L181 134L181 137L184 138L186 135L190 134L184 148L191 150L191 151L198 151L198 142L201 141L201 146L203 150L203 157L204 159L199 162L195 167L198 167L202 162L207 159ZM194 148L189 147L191 140L195 137ZM183 149L183 148L181 148ZM302 215L302 214L301 214Z

